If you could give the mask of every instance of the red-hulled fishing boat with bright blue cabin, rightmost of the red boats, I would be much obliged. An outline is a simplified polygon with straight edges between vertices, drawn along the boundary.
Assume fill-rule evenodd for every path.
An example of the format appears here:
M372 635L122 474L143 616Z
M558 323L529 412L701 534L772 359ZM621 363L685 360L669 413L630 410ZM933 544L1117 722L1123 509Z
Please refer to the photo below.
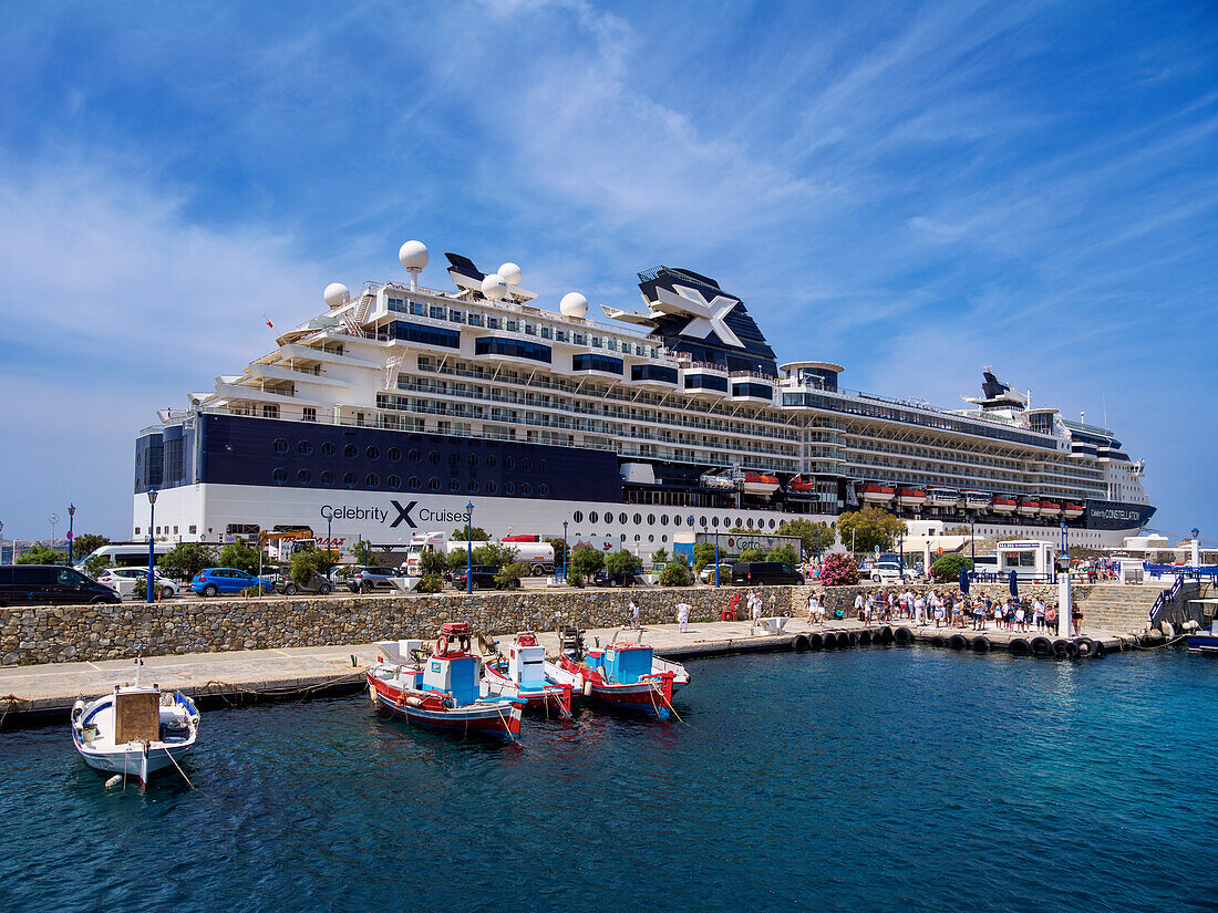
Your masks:
M647 644L609 644L603 650L563 654L546 661L546 677L600 704L660 719L672 712L672 695L689 684L689 673L678 662L655 655Z

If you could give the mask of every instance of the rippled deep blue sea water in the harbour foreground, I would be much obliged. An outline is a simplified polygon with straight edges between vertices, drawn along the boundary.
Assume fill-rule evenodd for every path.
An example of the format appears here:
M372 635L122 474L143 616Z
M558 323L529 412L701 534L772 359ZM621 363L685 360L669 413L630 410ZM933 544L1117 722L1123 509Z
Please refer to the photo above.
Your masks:
M931 649L693 663L682 722L523 744L363 695L211 711L107 791L0 734L0 911L1212 911L1218 662Z

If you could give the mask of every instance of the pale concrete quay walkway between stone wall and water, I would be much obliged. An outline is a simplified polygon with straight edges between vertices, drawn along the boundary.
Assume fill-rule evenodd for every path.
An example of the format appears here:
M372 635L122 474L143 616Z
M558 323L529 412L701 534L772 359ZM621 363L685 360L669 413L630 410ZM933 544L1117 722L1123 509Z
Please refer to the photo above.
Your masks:
M1006 631L974 632L961 628L914 627L911 622L864 624L856 620L831 620L823 626L790 618L781 633L754 629L748 621L691 622L682 633L677 624L646 624L632 628L593 628L585 632L588 648L615 642L643 643L658 655L672 660L697 660L743 652L809 651L871 645L918 643L949 649L985 651L1011 650L1021 638L1028 644L1035 633ZM1084 632L1085 637L1114 652L1134 646L1133 638L1112 632ZM513 633L496 635L501 645ZM951 642L952 637L961 638ZM985 645L978 638L985 638ZM1050 638L1050 645L1058 638ZM554 632L538 634L548 652L558 650ZM1065 640L1065 639L1062 639ZM1018 649L1016 650L1018 651ZM1052 650L1045 655L1051 655ZM350 693L363 688L363 671L376 662L373 644L301 646L268 650L150 656L144 660L141 678L161 688L180 690L203 708L235 706L270 700L303 699L322 694ZM55 662L0 668L0 730L7 726L62 722L77 696L96 696L116 683L134 676L132 660Z

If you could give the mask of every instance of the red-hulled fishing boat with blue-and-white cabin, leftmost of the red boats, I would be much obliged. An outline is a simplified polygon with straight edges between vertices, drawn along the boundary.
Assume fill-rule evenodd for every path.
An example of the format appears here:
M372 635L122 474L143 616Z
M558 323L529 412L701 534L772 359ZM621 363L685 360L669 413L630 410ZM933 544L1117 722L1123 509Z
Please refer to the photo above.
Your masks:
M515 740L525 701L484 696L482 659L470 652L469 626L448 622L431 655L421 640L381 642L381 661L368 670L368 696L412 723L462 735Z

